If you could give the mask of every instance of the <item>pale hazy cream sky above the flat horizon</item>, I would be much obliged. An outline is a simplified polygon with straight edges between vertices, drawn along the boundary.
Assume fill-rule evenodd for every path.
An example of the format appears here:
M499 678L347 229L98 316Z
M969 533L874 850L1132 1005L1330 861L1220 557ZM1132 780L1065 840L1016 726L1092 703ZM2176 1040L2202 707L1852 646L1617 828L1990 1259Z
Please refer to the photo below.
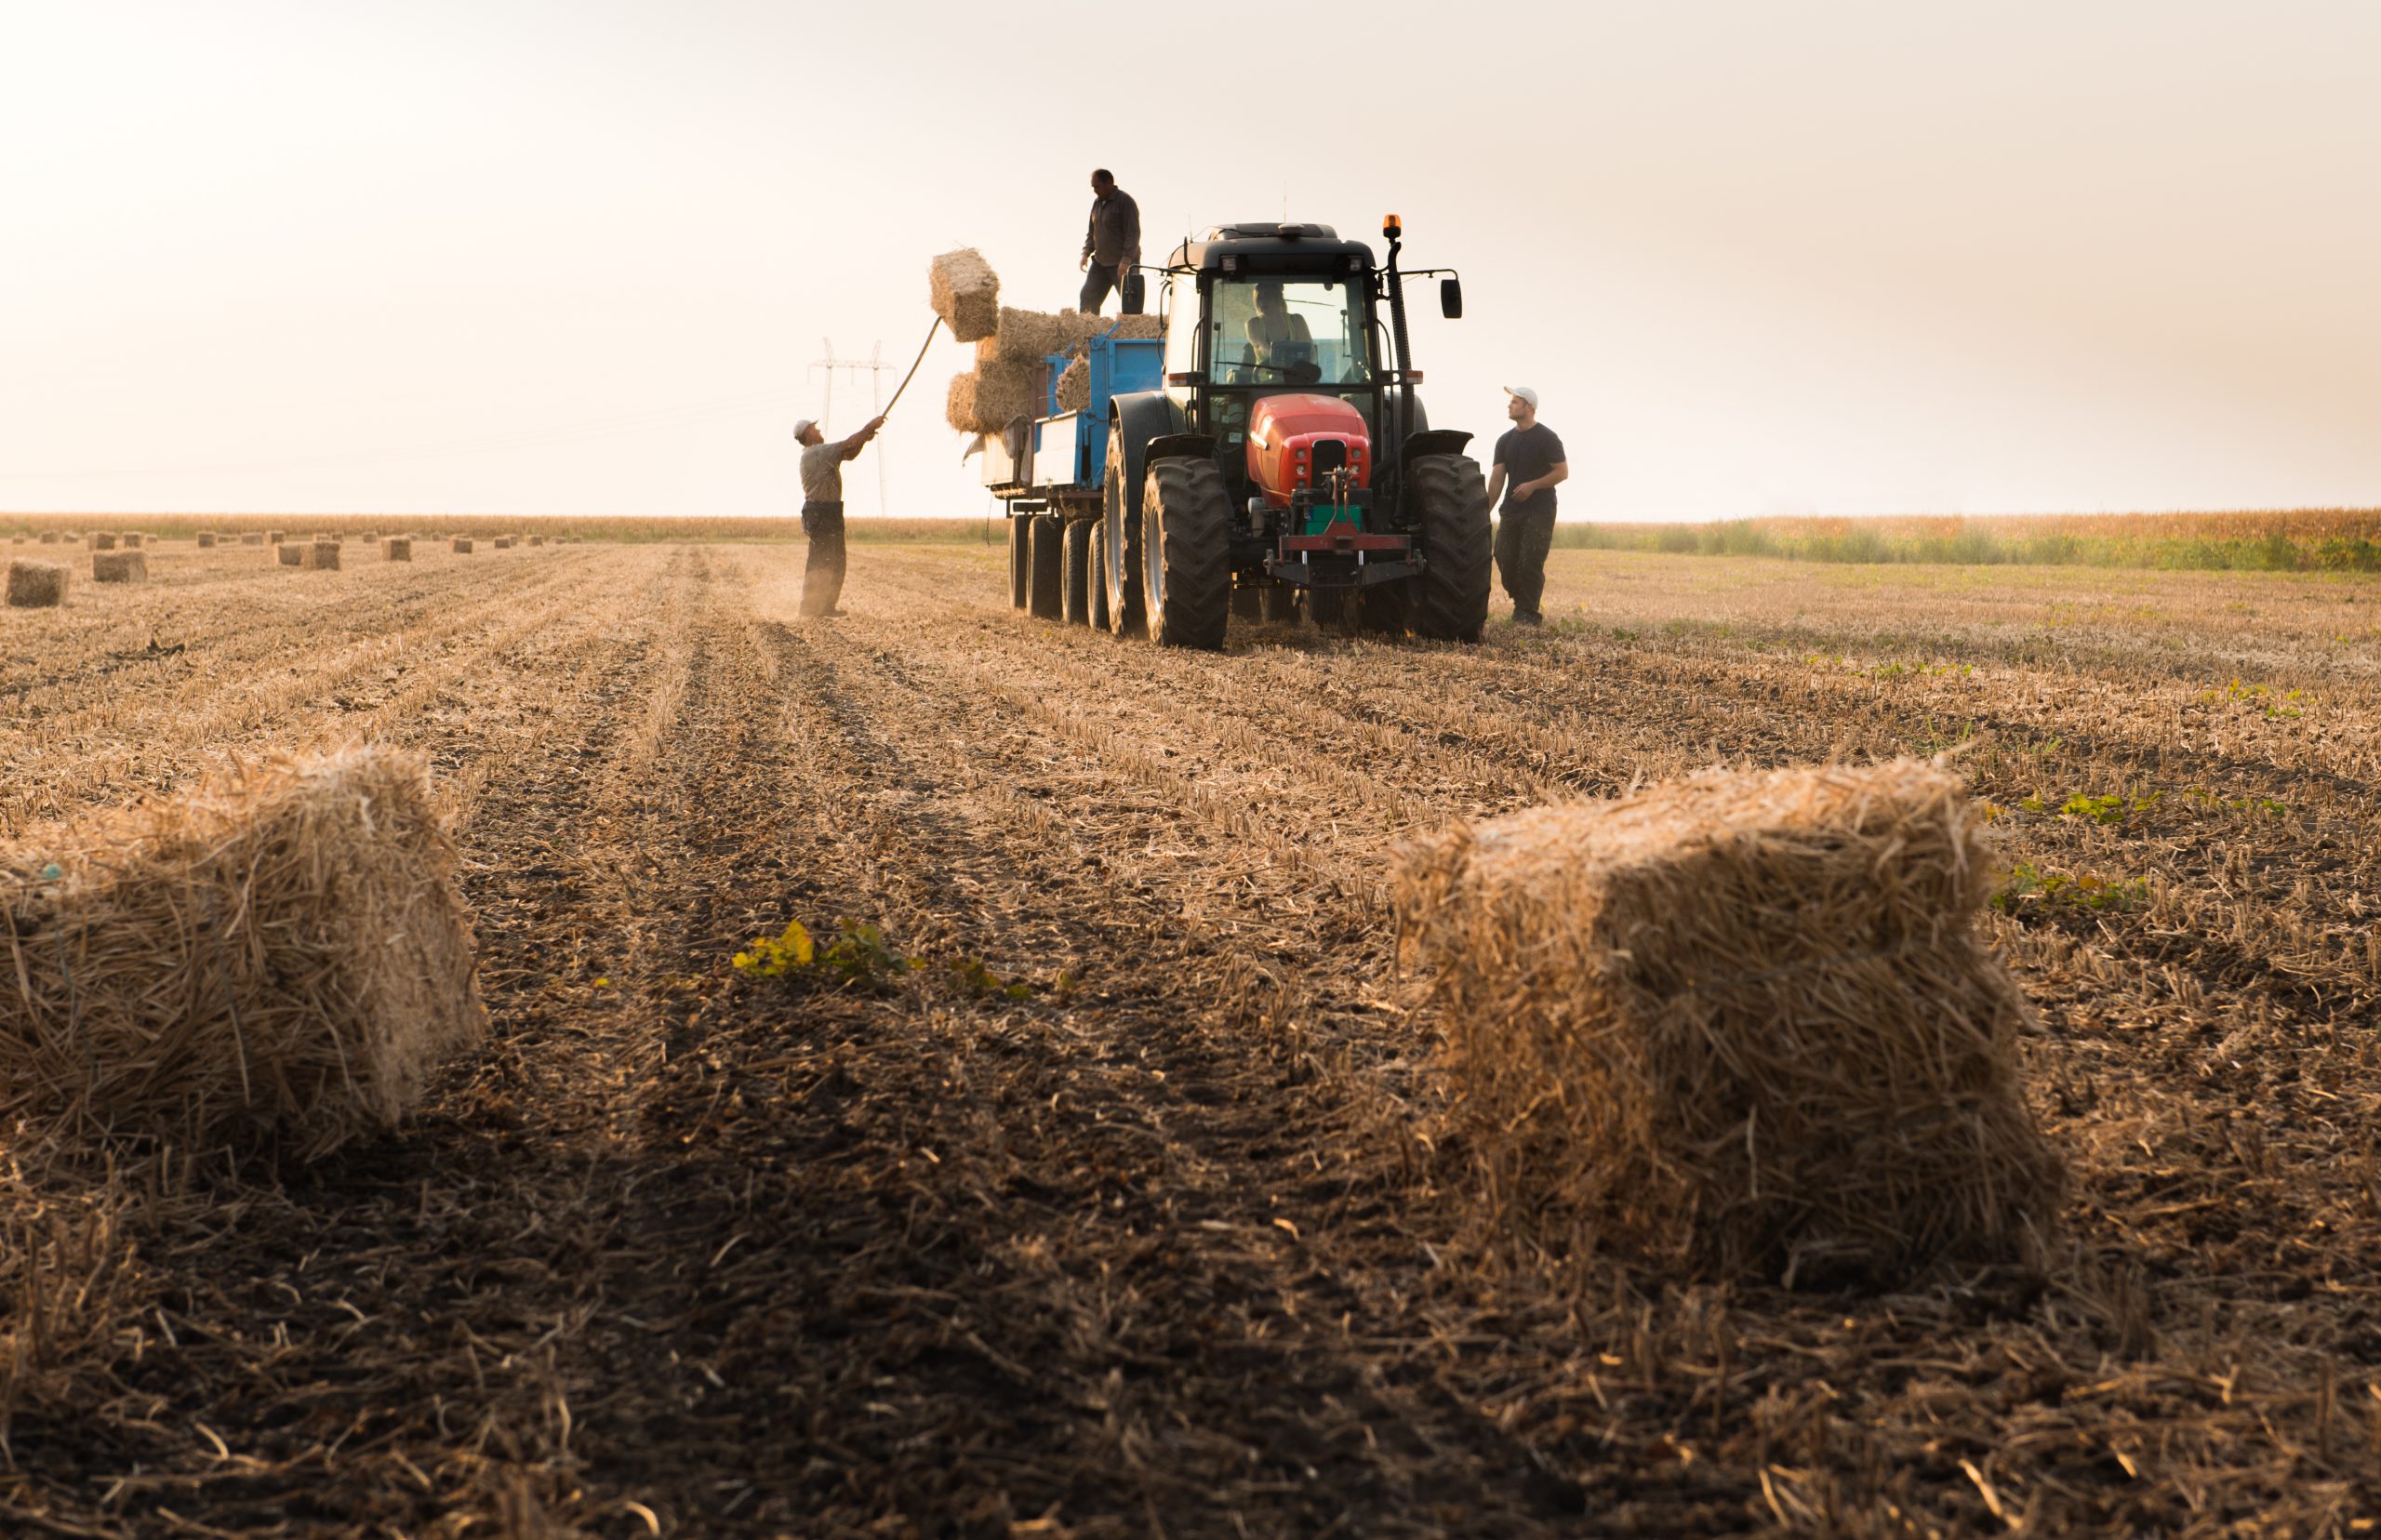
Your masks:
M1564 517L2376 505L2376 102L2374 0L0 0L0 507L788 514L812 359L1071 302L1095 164L1150 257L1402 214Z

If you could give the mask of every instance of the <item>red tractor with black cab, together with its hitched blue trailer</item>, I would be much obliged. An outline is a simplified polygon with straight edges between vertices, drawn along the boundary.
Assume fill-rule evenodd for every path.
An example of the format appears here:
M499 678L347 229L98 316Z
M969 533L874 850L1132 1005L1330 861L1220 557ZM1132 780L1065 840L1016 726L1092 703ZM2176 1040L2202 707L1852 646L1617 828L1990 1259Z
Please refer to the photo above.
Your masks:
M1379 267L1321 224L1229 224L1174 250L1164 343L1095 340L1090 407L1031 424L988 476L1007 481L1019 607L1169 647L1300 614L1479 640L1488 493L1471 436L1429 426L1405 328L1407 276L1441 278L1448 319L1462 286L1398 269L1395 214L1381 233Z

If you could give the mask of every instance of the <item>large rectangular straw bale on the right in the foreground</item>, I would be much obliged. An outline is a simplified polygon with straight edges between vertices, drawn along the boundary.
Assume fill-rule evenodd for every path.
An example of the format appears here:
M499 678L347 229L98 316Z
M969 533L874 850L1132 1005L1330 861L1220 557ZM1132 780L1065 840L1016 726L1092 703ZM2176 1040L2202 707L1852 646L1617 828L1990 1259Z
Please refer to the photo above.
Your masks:
M2031 1259L2064 1185L1950 771L1705 774L1407 850L1498 1221L1707 1273Z

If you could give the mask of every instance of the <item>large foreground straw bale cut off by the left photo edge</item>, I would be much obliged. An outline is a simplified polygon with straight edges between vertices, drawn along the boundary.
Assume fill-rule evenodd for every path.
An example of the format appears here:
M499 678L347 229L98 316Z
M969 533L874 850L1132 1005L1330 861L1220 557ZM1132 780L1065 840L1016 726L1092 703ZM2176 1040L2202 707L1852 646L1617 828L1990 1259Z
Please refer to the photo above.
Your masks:
M314 1157L395 1126L486 1016L410 755L276 759L0 847L0 1114Z

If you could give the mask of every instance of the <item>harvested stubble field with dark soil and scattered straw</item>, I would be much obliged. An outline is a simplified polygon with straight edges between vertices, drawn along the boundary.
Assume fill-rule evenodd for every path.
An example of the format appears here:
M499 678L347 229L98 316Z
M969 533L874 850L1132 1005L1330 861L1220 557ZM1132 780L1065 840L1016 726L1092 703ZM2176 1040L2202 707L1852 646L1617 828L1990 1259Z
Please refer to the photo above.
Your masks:
M836 621L800 564L164 545L0 612L0 833L417 747L495 1019L324 1164L26 1154L0 1533L2374 1530L2381 581L1557 552L1543 633L1183 655L993 547L860 545ZM2052 1264L1486 1235L1398 840L1902 752L2005 831ZM876 981L731 966L790 919Z

